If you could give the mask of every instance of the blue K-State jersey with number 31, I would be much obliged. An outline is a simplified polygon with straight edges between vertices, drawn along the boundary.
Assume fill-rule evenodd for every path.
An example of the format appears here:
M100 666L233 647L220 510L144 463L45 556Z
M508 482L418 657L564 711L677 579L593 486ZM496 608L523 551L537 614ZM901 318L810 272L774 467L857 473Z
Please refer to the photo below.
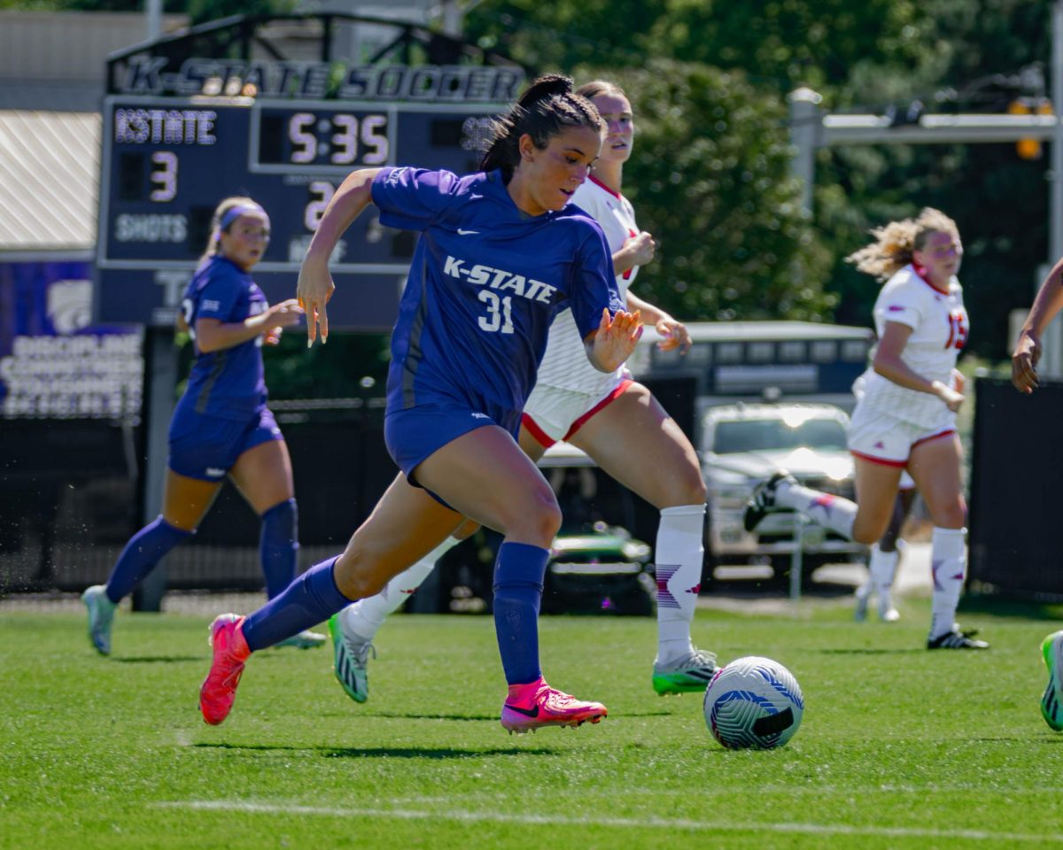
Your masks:
M524 407L554 316L580 336L623 309L602 228L578 208L529 216L502 172L385 168L381 223L421 232L391 337L388 410L458 403L499 421Z

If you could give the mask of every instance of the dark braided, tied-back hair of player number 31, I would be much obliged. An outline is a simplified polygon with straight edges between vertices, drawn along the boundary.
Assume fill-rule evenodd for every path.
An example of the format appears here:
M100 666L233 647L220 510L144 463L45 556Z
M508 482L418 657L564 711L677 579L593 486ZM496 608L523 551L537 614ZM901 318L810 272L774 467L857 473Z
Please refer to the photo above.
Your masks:
M540 76L508 113L492 122L493 139L480 160L480 170L501 168L508 183L521 160L521 136L527 133L536 148L542 149L570 126L601 132L602 117L594 104L573 91L568 76L553 73Z

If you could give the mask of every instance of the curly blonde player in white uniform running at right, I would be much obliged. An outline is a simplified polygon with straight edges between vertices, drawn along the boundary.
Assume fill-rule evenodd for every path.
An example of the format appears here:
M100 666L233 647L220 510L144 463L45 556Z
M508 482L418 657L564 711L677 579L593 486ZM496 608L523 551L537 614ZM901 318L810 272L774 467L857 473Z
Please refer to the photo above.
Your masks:
M874 543L890 523L907 469L934 524L927 649L985 649L989 644L954 622L967 564L963 454L956 434L963 393L954 386L967 339L956 279L960 233L946 215L926 208L873 235L874 242L848 257L887 282L875 302L878 348L849 428L859 504L802 487L779 472L754 492L745 525L753 530L766 512L791 508L858 543Z

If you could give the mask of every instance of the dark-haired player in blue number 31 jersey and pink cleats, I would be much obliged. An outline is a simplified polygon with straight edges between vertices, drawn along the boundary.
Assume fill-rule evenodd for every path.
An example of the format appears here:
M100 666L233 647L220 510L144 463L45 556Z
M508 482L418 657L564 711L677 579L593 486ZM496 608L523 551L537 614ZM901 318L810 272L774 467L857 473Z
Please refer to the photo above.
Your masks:
M496 124L484 172L356 171L322 217L300 275L308 336L327 338L327 258L369 205L421 232L391 340L385 439L402 470L342 555L307 571L248 617L212 624L214 663L200 690L221 722L251 651L378 593L462 514L504 534L494 620L509 693L502 725L523 732L606 715L543 680L538 614L549 546L560 527L550 484L517 443L554 316L572 310L587 356L617 369L642 330L622 309L601 227L569 199L602 147L594 106L570 80L537 81Z

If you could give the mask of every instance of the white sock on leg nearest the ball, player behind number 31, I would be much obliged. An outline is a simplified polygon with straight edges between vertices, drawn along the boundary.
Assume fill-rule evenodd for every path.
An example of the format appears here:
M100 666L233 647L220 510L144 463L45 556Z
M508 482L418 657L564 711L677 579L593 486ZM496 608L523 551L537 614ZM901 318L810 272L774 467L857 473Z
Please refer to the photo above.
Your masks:
M657 661L694 651L690 624L697 607L705 555L705 505L664 508L657 526Z

